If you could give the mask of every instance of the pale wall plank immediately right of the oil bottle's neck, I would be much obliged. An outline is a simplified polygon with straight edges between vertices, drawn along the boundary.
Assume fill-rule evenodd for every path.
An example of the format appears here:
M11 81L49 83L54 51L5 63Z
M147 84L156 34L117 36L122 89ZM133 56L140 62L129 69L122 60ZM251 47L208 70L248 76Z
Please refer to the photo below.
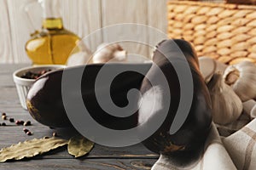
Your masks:
M101 0L63 0L61 13L64 26L83 38L87 48L96 50L102 43L102 32L97 31L102 27Z

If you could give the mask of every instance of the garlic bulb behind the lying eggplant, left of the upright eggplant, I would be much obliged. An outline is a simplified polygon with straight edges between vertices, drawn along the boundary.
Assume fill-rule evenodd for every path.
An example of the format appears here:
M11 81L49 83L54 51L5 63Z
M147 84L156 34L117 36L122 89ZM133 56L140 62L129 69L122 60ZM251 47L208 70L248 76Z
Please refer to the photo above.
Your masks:
M122 62L126 60L126 51L117 43L102 43L92 58L93 63Z

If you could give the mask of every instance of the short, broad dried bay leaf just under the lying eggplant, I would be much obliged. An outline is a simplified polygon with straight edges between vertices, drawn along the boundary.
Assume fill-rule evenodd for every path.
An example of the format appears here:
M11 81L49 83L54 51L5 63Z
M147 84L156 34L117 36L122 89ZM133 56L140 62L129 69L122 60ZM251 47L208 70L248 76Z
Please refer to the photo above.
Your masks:
M89 153L93 146L93 142L84 138L84 136L77 135L69 139L67 150L70 155L80 157Z

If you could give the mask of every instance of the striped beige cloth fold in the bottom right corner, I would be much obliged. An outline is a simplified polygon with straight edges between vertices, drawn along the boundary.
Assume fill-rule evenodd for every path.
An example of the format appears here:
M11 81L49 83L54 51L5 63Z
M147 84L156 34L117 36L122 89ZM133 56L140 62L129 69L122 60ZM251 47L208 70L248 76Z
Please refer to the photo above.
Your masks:
M224 138L223 143L237 169L256 169L256 119Z

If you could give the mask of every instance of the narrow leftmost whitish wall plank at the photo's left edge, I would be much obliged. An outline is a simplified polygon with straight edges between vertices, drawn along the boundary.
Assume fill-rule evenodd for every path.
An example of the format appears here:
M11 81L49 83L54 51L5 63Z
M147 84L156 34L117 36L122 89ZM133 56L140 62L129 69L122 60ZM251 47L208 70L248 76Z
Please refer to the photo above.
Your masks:
M13 59L9 26L9 11L6 0L0 0L0 63L10 63Z

